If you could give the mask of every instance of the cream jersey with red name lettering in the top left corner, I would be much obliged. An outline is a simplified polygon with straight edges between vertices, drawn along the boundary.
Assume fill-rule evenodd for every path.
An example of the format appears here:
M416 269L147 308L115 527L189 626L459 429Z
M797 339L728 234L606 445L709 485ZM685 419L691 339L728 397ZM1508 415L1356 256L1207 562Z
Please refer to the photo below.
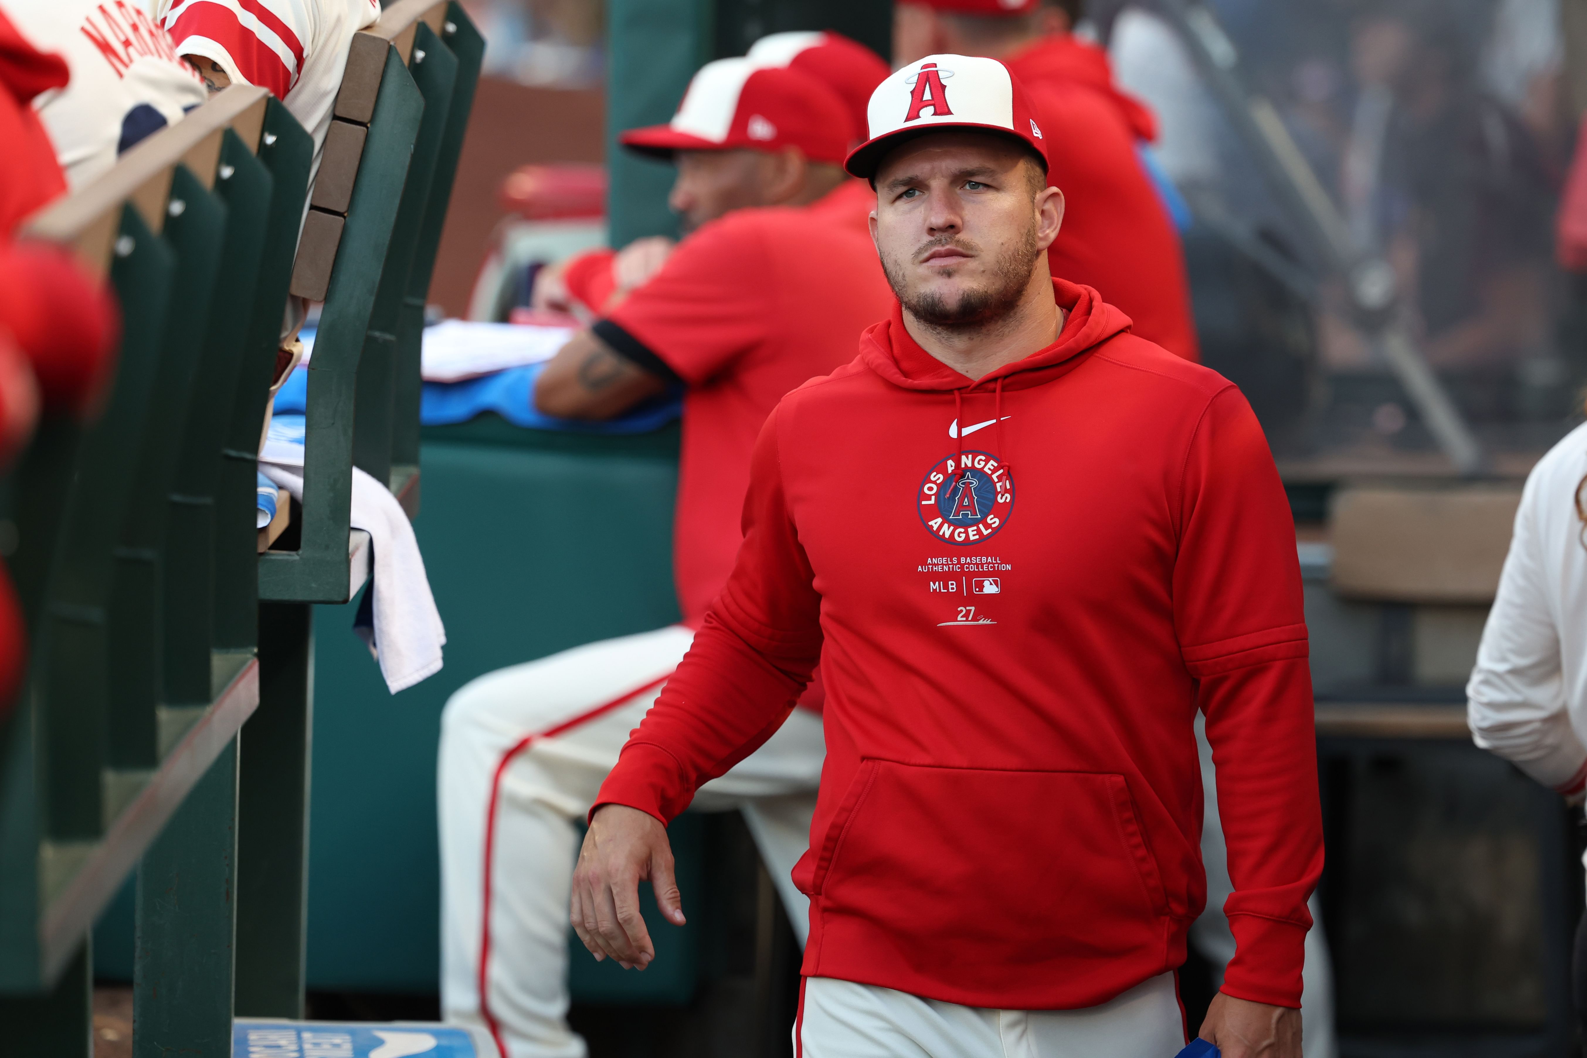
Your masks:
M33 106L75 189L208 97L165 30L132 0L0 0L0 10L71 70L67 87Z

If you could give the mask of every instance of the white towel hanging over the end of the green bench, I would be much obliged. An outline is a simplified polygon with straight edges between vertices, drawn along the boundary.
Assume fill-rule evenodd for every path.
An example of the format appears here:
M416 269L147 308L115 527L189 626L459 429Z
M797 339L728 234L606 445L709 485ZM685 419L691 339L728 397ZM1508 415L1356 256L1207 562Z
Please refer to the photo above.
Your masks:
M260 463L270 481L303 501L303 470ZM375 634L370 654L381 663L381 676L395 695L441 671L446 628L430 595L424 557L406 512L381 482L352 468L352 528L370 535L373 571L368 593L373 600Z

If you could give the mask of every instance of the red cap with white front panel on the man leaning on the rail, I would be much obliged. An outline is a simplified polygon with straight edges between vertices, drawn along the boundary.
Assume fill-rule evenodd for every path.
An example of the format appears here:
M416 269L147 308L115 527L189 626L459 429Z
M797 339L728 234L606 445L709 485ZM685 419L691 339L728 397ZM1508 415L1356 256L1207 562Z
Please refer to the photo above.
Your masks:
M617 141L665 159L674 151L798 148L813 162L840 165L849 125L838 94L808 73L717 59L694 75L670 122L630 128Z

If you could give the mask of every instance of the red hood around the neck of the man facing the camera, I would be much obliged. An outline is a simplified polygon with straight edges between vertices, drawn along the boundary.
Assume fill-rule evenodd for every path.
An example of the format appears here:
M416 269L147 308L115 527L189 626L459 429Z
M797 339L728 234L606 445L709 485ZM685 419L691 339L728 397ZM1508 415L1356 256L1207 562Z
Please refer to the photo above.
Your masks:
M860 362L900 389L974 390L1003 379L1001 389L1017 390L1041 385L1070 371L1079 365L1082 354L1132 327L1130 317L1105 303L1092 287L1054 279L1052 298L1066 312L1059 339L979 379L960 374L922 349L905 328L903 306L897 301L886 320L871 324L860 335Z

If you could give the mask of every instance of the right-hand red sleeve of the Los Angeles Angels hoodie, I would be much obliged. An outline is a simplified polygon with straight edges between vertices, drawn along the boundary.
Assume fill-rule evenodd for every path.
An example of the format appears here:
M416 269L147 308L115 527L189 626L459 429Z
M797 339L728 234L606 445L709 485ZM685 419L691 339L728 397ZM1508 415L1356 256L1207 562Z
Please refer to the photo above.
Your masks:
M1224 991L1298 1007L1306 899L1322 874L1317 742L1295 523L1239 390L1208 404L1185 458L1174 622L1217 768L1235 891Z

